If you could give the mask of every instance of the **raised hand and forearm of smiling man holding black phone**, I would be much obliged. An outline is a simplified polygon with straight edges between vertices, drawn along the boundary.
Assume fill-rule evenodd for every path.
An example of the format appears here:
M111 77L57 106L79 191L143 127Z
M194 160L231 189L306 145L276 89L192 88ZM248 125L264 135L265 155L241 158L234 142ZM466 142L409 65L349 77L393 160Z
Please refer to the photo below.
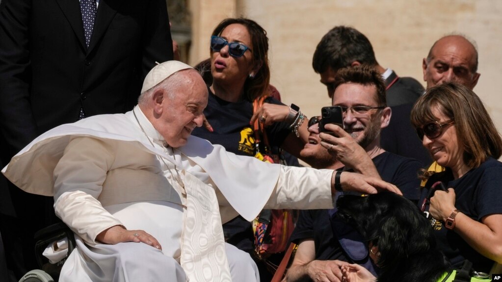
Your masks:
M320 132L322 147L345 166L354 168L356 172L380 178L369 155L349 133L336 124L326 124L324 128L334 132L335 136Z

